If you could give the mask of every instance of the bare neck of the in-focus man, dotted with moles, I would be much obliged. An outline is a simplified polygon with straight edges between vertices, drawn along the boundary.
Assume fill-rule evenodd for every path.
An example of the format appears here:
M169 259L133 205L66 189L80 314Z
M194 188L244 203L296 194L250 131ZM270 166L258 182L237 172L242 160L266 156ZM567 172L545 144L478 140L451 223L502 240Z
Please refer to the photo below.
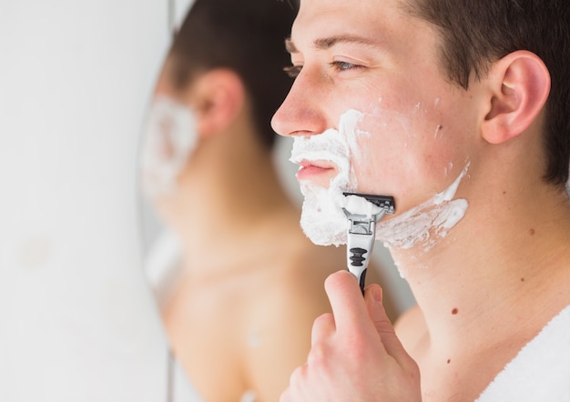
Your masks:
M514 325L528 325L522 332L533 333L533 326L545 325L533 321L534 312L545 317L550 309L554 316L570 304L570 296L554 303L545 296L562 292L557 284L570 280L570 206L557 192L542 189L533 197L502 190L469 200L462 221L433 248L391 250L422 308L433 347L464 347L466 337L481 347L477 342L488 339L490 328L495 339L502 327Z

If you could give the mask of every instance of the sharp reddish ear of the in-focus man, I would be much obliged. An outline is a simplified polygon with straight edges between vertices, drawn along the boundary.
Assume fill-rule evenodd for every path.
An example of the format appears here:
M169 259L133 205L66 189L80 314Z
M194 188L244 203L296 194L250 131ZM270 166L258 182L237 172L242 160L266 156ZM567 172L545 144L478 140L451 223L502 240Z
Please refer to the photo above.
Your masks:
M487 78L491 102L483 121L483 138L501 144L523 133L543 110L550 74L534 53L516 51L494 63Z

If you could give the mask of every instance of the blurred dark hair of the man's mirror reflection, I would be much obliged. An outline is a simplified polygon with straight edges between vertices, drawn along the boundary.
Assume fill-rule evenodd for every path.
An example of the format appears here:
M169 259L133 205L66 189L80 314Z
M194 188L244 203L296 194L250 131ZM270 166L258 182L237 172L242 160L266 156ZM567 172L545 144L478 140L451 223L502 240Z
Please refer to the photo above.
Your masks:
M196 0L169 52L178 88L213 68L237 73L249 93L260 142L268 148L276 137L271 117L292 85L283 72L290 65L283 44L297 15L296 1Z

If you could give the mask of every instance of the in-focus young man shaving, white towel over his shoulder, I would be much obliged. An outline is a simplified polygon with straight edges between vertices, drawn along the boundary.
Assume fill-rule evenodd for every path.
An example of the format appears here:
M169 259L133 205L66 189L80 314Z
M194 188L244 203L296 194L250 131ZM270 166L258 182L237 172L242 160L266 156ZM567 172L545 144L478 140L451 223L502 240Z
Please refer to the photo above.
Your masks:
M570 400L570 4L300 3L273 127L346 137L352 189L394 196L377 239L418 307L394 331L331 275L281 401ZM331 160L300 158L305 194Z

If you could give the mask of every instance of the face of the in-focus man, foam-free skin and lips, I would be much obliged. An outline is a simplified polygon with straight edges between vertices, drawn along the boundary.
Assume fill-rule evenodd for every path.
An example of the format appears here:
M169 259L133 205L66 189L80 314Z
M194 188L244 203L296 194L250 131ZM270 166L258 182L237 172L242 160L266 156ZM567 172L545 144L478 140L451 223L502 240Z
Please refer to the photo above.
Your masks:
M394 196L397 216L468 166L479 140L473 89L447 80L436 31L398 0L302 0L287 46L298 75L273 127L309 142L331 129L344 136L342 191ZM327 159L296 161L301 187L335 182L343 169Z

